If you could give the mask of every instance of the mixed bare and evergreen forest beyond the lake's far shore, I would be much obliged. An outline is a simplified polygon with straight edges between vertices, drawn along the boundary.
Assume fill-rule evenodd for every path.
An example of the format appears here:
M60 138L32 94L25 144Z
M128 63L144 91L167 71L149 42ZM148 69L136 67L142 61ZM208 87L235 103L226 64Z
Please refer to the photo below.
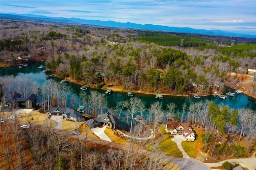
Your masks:
M246 39L247 43L233 40L231 44L231 40L182 33L10 20L1 23L0 47L5 61L15 64L20 51L29 51L30 60L45 57L46 67L59 77L98 88L115 82L124 90L207 95L216 91L214 84L220 91L225 86L235 88L241 78L228 73L246 74L248 68L256 67L254 39ZM31 27L25 27L28 24ZM105 76L95 78L96 72ZM250 95L255 96L254 86L252 89Z

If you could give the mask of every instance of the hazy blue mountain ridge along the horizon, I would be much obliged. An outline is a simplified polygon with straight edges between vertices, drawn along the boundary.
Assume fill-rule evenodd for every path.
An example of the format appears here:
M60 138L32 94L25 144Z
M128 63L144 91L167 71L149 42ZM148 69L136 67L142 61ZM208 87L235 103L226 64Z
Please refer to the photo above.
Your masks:
M2 19L13 19L13 20L33 20L33 21L44 21L44 22L59 22L69 24L81 24L81 25L97 25L104 27L115 27L115 28L126 28L126 29L145 29L152 31L168 31L168 32L179 32L179 33L197 33L207 35L224 35L233 37L248 37L256 38L256 35L233 33L228 31L220 30L206 30L206 29L193 29L190 27L169 27L163 25L152 25L152 24L137 24L137 23L121 23L115 21L100 21L100 20L84 20L79 18L63 18L63 17L47 17L38 16L32 14L0 14Z

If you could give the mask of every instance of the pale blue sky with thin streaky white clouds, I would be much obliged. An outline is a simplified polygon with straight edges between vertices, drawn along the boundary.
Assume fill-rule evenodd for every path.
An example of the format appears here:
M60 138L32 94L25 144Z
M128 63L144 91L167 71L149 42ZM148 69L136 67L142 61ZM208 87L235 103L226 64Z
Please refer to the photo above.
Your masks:
M0 0L0 12L256 35L256 0Z

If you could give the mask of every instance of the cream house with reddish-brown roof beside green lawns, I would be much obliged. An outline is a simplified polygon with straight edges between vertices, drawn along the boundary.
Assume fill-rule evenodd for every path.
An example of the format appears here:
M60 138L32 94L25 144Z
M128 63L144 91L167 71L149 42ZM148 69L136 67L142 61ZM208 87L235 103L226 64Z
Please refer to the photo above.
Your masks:
M188 123L169 121L165 125L165 131L171 135L182 135L185 141L195 141L196 139L195 133Z

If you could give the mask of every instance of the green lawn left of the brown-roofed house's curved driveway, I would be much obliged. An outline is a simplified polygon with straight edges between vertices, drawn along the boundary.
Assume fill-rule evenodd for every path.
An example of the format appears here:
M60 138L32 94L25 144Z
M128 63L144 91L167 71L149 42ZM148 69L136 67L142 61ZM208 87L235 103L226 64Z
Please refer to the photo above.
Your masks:
M164 154L167 154L169 156L175 156L182 158L182 153L177 147L177 144L171 140L171 137L165 132L165 129L163 126L159 127L159 130L161 131L163 135L162 141L158 144L158 149L160 149ZM155 144L149 145L147 147L148 150L153 150Z

